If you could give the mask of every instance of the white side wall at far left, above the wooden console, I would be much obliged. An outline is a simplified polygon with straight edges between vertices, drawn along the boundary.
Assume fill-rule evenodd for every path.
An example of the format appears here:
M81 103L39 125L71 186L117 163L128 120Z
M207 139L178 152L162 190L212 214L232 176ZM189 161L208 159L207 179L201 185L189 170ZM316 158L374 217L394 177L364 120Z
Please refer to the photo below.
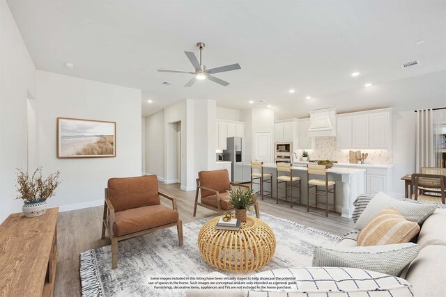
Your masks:
M0 222L22 211L15 168L26 170L26 97L36 96L36 68L8 4L0 0Z

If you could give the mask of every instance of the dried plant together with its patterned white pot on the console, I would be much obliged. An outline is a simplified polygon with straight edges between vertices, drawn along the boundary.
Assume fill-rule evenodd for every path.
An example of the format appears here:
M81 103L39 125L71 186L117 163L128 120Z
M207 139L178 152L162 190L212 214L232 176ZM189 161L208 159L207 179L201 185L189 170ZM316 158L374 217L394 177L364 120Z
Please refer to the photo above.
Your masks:
M25 216L41 216L47 211L47 198L54 196L54 191L61 182L57 170L46 179L42 177L42 166L38 166L36 171L30 176L28 172L17 168L17 195L15 199L24 201L22 211Z

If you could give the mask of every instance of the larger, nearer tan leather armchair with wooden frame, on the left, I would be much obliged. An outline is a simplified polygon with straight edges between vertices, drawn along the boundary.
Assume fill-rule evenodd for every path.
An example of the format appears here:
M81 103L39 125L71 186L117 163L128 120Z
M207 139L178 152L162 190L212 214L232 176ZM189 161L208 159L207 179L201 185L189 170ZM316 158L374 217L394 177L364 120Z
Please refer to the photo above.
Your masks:
M172 202L161 205L160 197ZM112 268L118 266L118 241L177 227L183 245L183 223L178 217L176 199L158 192L156 175L109 179L105 188L102 239L107 230L112 240Z

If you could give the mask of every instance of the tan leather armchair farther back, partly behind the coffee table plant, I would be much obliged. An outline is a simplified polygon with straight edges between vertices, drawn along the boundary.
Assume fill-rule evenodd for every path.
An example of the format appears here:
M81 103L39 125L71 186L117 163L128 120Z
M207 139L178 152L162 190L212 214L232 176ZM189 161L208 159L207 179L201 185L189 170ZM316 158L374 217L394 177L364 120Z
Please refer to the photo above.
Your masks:
M226 169L200 171L198 172L198 177L197 191L195 192L194 216L197 214L197 205L220 212L222 214L229 214L234 210L232 204L229 203L231 198L227 192L231 190L231 185L251 189L251 186L247 184L229 182L229 172ZM201 202L198 201L199 193L201 196ZM255 194L252 200L254 200L252 206L254 206L256 211L256 217L259 218L259 204L257 204Z

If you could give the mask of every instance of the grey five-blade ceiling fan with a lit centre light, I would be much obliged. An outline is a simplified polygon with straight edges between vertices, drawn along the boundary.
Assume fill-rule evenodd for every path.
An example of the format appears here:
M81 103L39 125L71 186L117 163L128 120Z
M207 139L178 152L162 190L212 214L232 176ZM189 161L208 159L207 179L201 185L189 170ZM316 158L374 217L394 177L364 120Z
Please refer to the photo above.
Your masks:
M226 71L231 71L231 70L238 70L238 69L242 69L242 67L240 67L240 65L237 63L237 64L226 65L226 66L222 66L222 67L216 67L216 68L212 68L212 69L206 69L206 65L204 65L203 61L202 61L202 56L203 56L202 51L203 51L204 47L206 47L204 42L197 43L197 48L200 49L200 61L197 60L197 57L195 56L195 54L192 51L184 52L186 54L187 58L189 58L190 63L192 63L192 65L194 66L195 72L181 71L181 70L165 70L165 69L158 69L158 71L159 72L194 74L195 76L192 77L192 79L185 84L185 87L192 86L197 79L199 79L199 80L209 79L210 81L218 83L222 86L228 86L229 83L227 81L224 81L222 79L217 79L217 77L213 77L210 74L226 72Z

